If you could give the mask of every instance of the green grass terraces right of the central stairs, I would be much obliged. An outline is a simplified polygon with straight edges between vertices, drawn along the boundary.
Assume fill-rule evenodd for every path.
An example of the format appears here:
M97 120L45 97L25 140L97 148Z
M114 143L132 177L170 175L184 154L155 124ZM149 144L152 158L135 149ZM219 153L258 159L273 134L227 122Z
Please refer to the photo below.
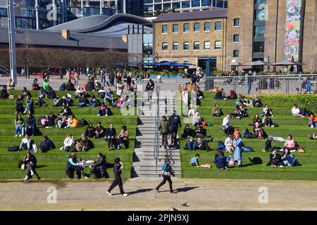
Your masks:
M225 141L225 134L220 129L223 122L223 117L228 113L233 113L235 109L235 100L215 100L213 99L214 94L210 92L204 92L206 98L201 100L201 107L197 107L197 111L201 114L201 117L206 120L207 123L212 124L211 127L204 127L207 131L207 135L213 137L213 142L209 143L212 148L210 152L202 150L184 150L187 139L180 140L180 154L182 164L182 177L183 178L199 178L199 179L280 179L280 180L317 180L317 140L309 140L306 134L317 134L317 129L311 129L307 127L308 119L295 118L292 116L291 108L279 108L272 107L272 117L274 123L279 124L279 127L263 127L268 136L281 136L287 139L288 134L292 134L294 140L296 140L300 146L302 146L305 153L294 153L297 156L299 163L302 164L300 167L285 167L285 169L273 169L272 167L266 166L269 161L269 155L271 153L263 153L264 143L266 140L259 139L243 139L245 146L254 148L252 153L242 153L242 168L231 167L228 171L217 169L213 160L216 154L216 148L218 148L218 141ZM261 99L261 98L260 98ZM275 100L268 100L268 105L275 105ZM219 103L220 108L223 109L224 115L220 118L212 117L211 110L215 103ZM263 102L264 103L264 102ZM263 108L248 108L250 117L242 118L242 120L231 119L232 125L235 128L239 128L242 134L243 130L247 127L252 133L252 127L249 124L252 122L254 113L262 113ZM315 112L316 113L316 112ZM179 129L179 135L185 127L185 124L192 126L192 118L182 116L182 127ZM209 138L206 138L209 139ZM273 141L272 146L279 146L282 148L283 143ZM200 154L199 163L212 165L211 169L197 168L189 165L189 160ZM225 153L228 155L229 153ZM230 153L232 155L233 153ZM250 159L261 158L262 164L254 165Z

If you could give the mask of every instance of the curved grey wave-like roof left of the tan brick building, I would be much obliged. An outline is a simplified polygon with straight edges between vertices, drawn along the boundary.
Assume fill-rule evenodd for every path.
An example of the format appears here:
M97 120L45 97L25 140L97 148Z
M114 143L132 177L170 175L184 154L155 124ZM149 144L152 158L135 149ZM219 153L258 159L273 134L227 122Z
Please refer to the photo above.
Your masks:
M127 34L128 25L146 25L150 27L151 22L137 15L116 14L116 15L92 15L85 18L73 20L61 25L47 28L49 31L70 30L74 33L94 33L101 35L117 36Z

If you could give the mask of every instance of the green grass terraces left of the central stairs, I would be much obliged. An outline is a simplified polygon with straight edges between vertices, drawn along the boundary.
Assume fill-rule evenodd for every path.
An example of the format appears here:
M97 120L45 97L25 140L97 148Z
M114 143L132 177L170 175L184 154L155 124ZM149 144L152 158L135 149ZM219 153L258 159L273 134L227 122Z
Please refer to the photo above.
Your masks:
M10 91L15 95L15 98L22 91ZM30 91L34 101L37 99L37 91ZM114 91L114 95L116 91ZM56 94L59 96L64 96L65 94L75 94L75 91L56 91ZM94 94L97 96L97 92L89 91L89 94ZM103 99L100 99L103 101ZM49 115L49 112L53 111L56 115L61 110L61 107L54 108L52 106L53 99L45 98L44 101L47 103L47 106L44 108L39 108L35 106L35 117L42 115ZM77 99L73 99L74 103L78 103ZM0 179L22 179L25 176L25 170L18 169L18 160L22 160L27 151L23 150L20 152L9 152L7 150L8 146L19 146L21 139L23 137L15 137L15 99L1 99L0 100ZM104 139L90 139L94 143L94 148L88 150L87 152L77 153L77 157L82 157L84 160L97 160L97 154L103 153L106 155L106 160L108 162L113 162L115 158L119 157L125 164L125 169L123 169L123 178L128 179L131 177L131 168L133 162L133 152L135 148L135 136L137 128L137 115L135 113L135 108L129 108L130 115L125 116L121 115L120 108L113 108L108 105L108 108L111 110L112 114L109 114L108 117L101 116L97 117L97 108L98 107L84 107L78 108L77 106L72 106L70 109L73 114L78 119L85 119L88 122L92 122L94 127L97 127L97 123L101 124L108 128L110 123L113 123L114 128L116 128L117 135L120 132L121 127L125 124L130 131L130 143L129 148L120 148L119 150L108 150L105 147L107 142ZM23 119L26 119L27 115L23 115ZM26 120L25 120L26 122ZM38 126L39 127L39 126ZM63 146L63 141L66 138L68 133L72 133L75 139L80 139L80 135L85 131L86 126L77 127L77 128L67 128L60 129L52 127L49 129L39 127L39 132L36 136L31 139L35 141L39 147L39 143L42 140L42 135L49 136L49 139L52 139L56 148L49 150L47 153L38 152L35 153L37 158L38 169L37 172L39 176L43 179L65 179L68 178L65 174L66 162L68 160L69 152L64 152L60 150ZM89 168L85 169L86 172L89 172ZM108 176L113 177L113 169L107 169Z

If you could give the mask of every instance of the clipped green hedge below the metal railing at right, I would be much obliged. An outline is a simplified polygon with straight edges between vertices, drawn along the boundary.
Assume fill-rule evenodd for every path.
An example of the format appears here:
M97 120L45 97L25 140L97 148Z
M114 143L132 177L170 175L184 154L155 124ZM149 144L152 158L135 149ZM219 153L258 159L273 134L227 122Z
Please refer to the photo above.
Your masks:
M263 104L270 103L270 107L291 109L294 104L297 104L299 108L306 108L317 113L316 94L262 95L259 98Z

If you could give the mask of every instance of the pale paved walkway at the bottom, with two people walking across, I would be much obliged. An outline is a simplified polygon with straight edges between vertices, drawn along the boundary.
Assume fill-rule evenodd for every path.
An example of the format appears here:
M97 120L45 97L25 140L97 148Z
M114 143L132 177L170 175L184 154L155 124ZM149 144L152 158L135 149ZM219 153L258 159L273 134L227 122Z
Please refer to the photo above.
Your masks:
M130 179L123 184L128 197L119 195L118 187L108 195L111 181L1 182L0 210L165 211L172 206L180 211L317 210L316 181L173 179L173 187L179 192L171 194L168 184L160 193L153 190L161 179ZM51 187L57 190L56 203L48 192ZM267 198L263 192L266 188ZM259 203L259 198L268 203Z

